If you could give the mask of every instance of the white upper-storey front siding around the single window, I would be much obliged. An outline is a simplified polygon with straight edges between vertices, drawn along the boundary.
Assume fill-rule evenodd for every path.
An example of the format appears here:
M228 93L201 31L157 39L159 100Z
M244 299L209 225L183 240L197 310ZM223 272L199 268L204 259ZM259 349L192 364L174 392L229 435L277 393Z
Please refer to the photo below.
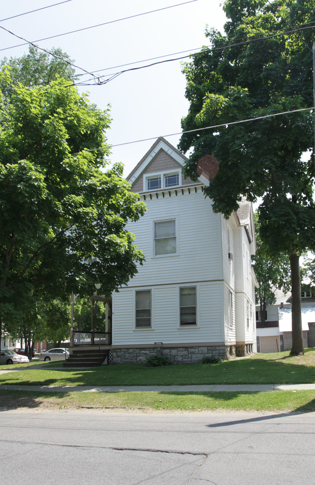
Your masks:
M211 201L204 197L201 188L197 194L193 190L189 194L187 188L183 192L179 190L177 196L169 196L167 192L164 197L161 194L158 198L146 197L145 215L127 225L127 230L135 235L136 246L145 256L143 266L138 266L138 273L129 286L223 278L221 215L212 212ZM175 219L178 227L177 253L167 257L154 256L154 222L163 219Z

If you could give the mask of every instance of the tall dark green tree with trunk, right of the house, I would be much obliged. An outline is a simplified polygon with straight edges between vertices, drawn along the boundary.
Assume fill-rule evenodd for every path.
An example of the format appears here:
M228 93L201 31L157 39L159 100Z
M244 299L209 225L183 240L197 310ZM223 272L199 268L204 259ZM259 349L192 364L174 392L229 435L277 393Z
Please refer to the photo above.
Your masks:
M185 173L196 178L198 166L205 172L200 159L216 157L219 170L205 193L226 217L242 195L261 197L262 241L290 259L291 355L303 354L299 256L315 245L313 116L269 115L313 106L314 29L290 26L312 25L314 0L226 0L223 9L225 35L207 30L212 47L184 66L190 108L183 130L216 126L182 135L180 149L193 147Z

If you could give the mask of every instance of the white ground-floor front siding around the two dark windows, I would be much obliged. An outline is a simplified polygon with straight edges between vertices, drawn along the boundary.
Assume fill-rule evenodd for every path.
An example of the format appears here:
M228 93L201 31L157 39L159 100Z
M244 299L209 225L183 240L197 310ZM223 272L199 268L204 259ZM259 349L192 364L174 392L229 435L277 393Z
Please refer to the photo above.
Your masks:
M222 283L199 283L196 287L196 325L180 325L179 285L156 286L151 290L151 328L135 328L130 308L134 289L123 288L113 294L113 345L139 345L224 340ZM138 289L136 290L138 291ZM154 329L154 330L153 330Z

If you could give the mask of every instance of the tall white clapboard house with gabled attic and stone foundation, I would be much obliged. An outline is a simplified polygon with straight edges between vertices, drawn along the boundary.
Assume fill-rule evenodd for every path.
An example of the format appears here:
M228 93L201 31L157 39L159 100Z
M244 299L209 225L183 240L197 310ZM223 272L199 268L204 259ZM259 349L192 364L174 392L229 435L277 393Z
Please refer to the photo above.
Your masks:
M128 177L147 205L127 226L146 260L112 301L94 295L108 307L106 339L75 331L70 349L105 343L114 363L144 362L157 347L178 363L256 350L252 205L229 220L215 214L208 180L183 177L186 160L159 138Z

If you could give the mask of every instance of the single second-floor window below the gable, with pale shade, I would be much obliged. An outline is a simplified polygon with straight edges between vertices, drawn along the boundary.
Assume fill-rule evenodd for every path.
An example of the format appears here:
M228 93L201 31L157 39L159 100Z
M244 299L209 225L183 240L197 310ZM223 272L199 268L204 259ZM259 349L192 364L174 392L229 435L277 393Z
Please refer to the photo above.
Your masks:
M154 256L176 253L176 220L154 222Z

